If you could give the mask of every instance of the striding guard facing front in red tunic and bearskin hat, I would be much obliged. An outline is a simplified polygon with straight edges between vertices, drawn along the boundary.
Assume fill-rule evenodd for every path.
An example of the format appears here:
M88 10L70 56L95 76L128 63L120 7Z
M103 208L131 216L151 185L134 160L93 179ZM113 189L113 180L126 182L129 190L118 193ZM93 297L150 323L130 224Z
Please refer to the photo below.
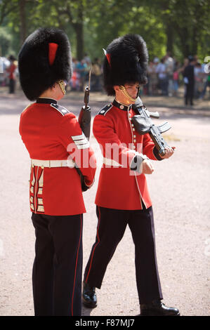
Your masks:
M103 167L96 194L96 242L84 272L83 302L96 307L96 287L100 289L107 265L129 225L135 244L140 315L179 315L177 308L162 303L152 202L145 178L153 172L150 159L169 158L174 147L166 147L161 157L149 134L140 135L131 121L140 84L146 82L147 48L140 36L128 34L114 39L105 55L104 86L107 95L115 98L93 122Z

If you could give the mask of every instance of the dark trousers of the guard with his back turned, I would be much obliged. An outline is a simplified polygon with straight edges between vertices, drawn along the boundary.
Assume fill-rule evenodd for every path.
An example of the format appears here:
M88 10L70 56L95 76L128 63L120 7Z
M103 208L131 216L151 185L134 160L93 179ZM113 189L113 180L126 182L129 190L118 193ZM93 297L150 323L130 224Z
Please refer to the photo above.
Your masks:
M32 213L32 222L36 234L32 274L35 315L81 315L83 215Z

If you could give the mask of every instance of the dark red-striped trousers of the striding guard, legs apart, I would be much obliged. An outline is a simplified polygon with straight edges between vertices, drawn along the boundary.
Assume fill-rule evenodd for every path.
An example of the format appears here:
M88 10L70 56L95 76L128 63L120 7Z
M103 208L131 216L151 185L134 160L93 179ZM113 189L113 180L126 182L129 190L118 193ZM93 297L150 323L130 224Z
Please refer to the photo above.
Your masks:
M128 224L135 244L136 283L140 303L162 299L155 252L152 206L143 210L96 207L98 227L84 272L84 281L100 289L105 270Z

